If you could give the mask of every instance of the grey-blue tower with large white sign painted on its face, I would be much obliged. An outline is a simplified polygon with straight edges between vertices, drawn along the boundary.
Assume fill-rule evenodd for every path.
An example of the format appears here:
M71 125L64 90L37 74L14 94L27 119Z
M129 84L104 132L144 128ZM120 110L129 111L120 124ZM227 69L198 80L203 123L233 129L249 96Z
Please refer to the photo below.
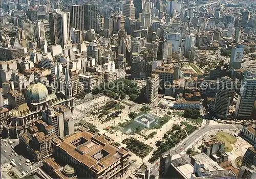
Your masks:
M242 43L236 43L232 46L231 57L229 61L229 67L234 69L240 69L244 54L244 45Z

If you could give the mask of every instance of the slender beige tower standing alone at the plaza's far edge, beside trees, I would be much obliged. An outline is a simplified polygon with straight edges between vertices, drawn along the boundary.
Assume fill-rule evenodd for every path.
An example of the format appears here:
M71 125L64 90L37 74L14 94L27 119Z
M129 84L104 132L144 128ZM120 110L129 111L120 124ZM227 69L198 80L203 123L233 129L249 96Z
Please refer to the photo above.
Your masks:
M152 74L151 77L147 77L145 87L145 98L148 103L151 103L158 95L159 88L159 75Z

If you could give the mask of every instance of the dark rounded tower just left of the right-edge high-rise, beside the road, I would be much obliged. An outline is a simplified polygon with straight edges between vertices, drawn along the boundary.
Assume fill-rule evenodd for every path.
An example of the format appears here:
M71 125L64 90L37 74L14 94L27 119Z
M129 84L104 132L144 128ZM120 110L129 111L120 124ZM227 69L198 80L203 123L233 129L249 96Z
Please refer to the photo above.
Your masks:
M217 82L217 93L215 96L214 112L221 118L227 118L229 105L232 103L234 96L234 87L232 79L223 76Z

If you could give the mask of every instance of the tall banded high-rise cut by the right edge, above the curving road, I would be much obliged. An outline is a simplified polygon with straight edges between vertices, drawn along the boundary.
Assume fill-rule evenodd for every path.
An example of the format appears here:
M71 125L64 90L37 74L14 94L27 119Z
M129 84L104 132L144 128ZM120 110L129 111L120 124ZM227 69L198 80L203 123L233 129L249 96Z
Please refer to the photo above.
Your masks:
M250 119L256 96L256 79L246 71L236 105L237 118Z

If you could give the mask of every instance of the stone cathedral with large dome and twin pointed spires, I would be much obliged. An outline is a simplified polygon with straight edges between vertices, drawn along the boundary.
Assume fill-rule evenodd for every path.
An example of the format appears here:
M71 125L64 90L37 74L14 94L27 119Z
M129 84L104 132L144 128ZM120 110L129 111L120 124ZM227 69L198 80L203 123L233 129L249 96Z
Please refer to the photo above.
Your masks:
M63 121L63 119L73 116L74 112L74 97L68 67L65 79L62 79L59 64L57 65L54 84L57 90L52 94L48 93L47 87L39 83L37 78L26 87L26 103L12 109L5 124L5 130L10 138L17 138L29 127L35 125L37 120L43 120L49 125L53 125L57 136L63 137L63 125L59 116L62 116L61 121ZM61 107L68 109L70 113L67 114L67 110L66 113L61 111Z

